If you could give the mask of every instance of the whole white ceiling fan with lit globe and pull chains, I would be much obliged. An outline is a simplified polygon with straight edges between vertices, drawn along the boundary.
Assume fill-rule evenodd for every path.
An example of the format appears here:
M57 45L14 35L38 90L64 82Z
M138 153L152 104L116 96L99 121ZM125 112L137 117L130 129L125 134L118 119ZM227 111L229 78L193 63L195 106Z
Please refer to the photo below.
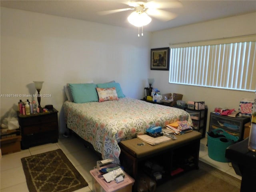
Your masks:
M162 9L182 7L182 4L176 0L173 0L173 1L135 0L135 1L128 1L128 2L126 1L118 1L118 2L127 4L130 7L102 11L102 12L98 12L98 14L106 15L106 14L113 14L113 13L122 12L122 11L134 10L128 16L128 21L130 22L130 24L138 27L139 30L140 30L140 27L142 27L142 36L143 36L143 26L149 24L152 20L150 16L162 21L172 20L176 17L176 14L162 10ZM138 36L140 36L139 33L138 33Z

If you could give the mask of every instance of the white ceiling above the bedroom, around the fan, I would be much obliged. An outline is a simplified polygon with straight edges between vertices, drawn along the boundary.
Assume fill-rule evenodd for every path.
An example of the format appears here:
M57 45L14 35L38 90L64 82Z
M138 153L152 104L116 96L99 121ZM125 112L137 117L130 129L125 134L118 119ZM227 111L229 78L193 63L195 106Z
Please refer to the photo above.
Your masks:
M175 5L172 4L172 0L155 0L155 2ZM162 21L152 17L152 22L144 26L144 30L157 31L256 12L256 0L180 0L179 2L182 4L181 7L162 9L176 14L176 18ZM129 8L128 0L1 0L0 4L7 8L135 28L127 20L133 10L107 15L98 13L106 10Z

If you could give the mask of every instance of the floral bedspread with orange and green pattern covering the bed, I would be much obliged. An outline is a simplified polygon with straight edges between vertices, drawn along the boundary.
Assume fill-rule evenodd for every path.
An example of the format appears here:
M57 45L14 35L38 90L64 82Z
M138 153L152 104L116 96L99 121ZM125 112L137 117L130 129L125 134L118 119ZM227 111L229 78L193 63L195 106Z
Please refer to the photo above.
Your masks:
M80 104L66 101L64 115L68 128L90 142L102 154L102 159L114 158L116 163L119 163L121 140L175 121L188 120L192 125L190 115L184 110L128 97Z

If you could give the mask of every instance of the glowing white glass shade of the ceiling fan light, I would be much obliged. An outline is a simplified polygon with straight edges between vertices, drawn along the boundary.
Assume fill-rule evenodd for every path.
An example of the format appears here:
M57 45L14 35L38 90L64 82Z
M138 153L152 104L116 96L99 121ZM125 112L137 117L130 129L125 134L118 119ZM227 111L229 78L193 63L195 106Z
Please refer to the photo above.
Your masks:
M136 27L147 25L151 20L152 19L145 12L134 11L128 16L129 23Z

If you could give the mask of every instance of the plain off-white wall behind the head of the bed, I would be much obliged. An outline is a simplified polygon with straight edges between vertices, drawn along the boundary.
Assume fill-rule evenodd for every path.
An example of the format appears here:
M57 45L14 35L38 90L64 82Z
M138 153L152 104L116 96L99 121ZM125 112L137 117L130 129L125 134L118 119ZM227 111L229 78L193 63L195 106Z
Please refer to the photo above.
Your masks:
M150 63L150 33L138 38L137 29L1 7L1 120L18 101L3 94L35 94L33 81L44 81L41 106L59 110L66 83L116 80L126 96L142 98Z

